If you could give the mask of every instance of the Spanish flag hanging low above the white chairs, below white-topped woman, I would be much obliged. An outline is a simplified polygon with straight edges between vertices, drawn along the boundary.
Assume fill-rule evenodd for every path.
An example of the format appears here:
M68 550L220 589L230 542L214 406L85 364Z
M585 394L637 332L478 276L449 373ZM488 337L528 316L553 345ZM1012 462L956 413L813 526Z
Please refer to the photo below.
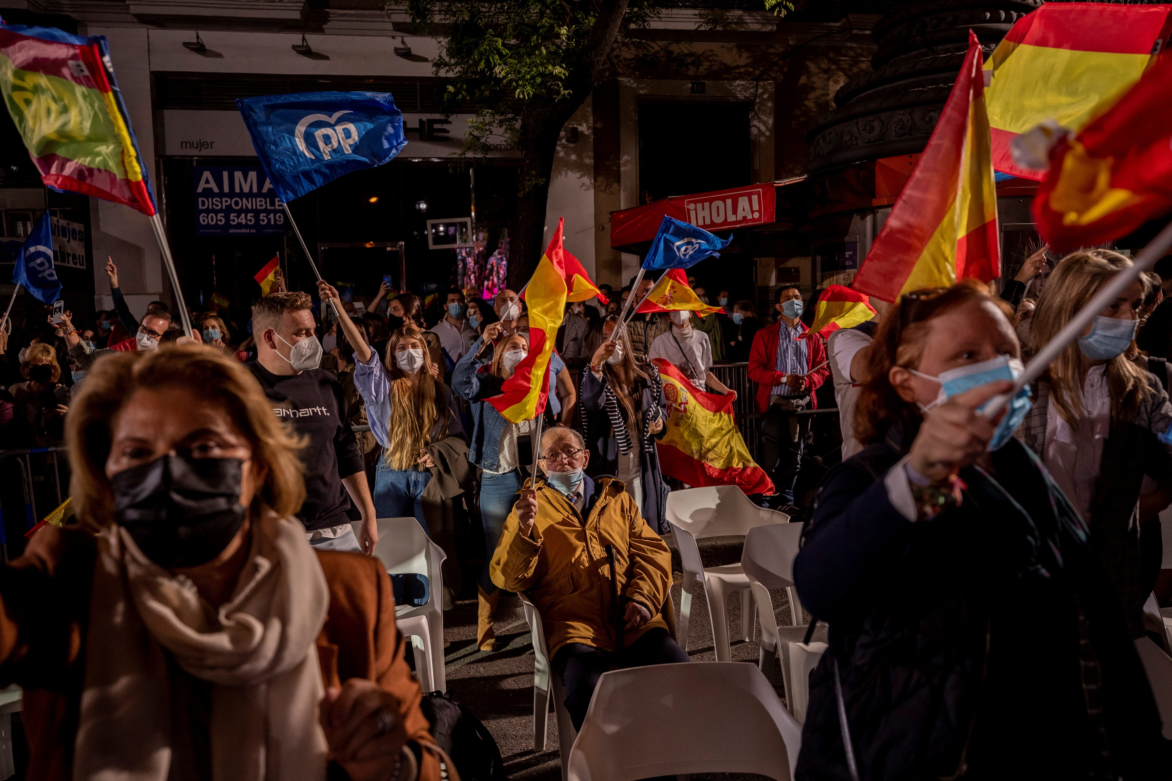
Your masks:
M745 494L772 494L774 481L749 455L732 416L732 398L696 390L667 360L656 358L667 399L659 441L660 469L689 485L740 485Z

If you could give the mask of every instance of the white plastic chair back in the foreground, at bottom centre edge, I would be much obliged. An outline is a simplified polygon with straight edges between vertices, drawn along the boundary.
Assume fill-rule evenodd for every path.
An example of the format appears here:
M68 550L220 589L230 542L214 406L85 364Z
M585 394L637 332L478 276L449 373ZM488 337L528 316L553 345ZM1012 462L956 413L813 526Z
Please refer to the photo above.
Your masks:
M802 727L752 665L653 665L604 673L570 752L568 781L755 773L789 781Z

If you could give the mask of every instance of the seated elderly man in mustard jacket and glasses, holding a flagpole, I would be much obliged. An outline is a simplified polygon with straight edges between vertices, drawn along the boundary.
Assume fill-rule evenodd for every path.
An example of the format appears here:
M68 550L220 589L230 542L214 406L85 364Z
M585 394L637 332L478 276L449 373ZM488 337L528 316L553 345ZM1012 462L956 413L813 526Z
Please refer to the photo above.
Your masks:
M541 612L577 729L599 677L615 663L636 667L689 659L662 616L672 589L667 543L643 521L624 483L586 476L590 451L577 430L547 430L541 454L545 480L522 490L490 572L497 586L527 592ZM607 545L614 550L618 609Z

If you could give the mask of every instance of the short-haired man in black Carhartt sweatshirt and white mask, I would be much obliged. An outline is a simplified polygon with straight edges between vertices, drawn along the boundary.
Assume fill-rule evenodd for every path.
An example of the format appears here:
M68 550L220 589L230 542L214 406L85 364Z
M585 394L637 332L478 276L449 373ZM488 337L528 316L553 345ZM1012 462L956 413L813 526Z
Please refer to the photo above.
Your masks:
M374 502L357 440L346 422L346 394L321 362L307 293L266 296L252 307L257 360L247 364L273 412L306 439L305 504L298 518L309 544L374 555ZM353 503L352 503L353 502ZM356 509L355 509L356 508ZM350 521L362 521L355 537Z

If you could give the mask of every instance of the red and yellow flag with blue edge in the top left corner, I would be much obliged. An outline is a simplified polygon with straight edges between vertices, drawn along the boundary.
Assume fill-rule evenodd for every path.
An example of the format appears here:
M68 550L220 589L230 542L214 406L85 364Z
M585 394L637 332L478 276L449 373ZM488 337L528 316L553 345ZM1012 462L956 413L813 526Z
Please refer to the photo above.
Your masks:
M104 36L0 23L0 93L45 184L155 213Z

